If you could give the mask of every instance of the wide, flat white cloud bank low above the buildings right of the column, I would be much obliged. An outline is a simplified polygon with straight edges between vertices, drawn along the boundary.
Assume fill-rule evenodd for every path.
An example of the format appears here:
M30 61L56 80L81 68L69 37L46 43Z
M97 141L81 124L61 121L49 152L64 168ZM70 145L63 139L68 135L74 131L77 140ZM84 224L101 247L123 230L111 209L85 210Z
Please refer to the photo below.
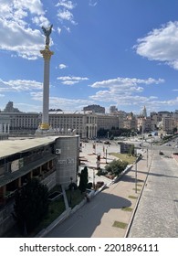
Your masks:
M162 79L136 79L136 78L117 78L112 80L97 81L90 85L94 89L105 89L99 90L94 95L91 95L89 99L100 102L110 102L122 108L123 106L135 105L137 107L142 105L152 105L153 103L161 105L162 101L159 101L157 97L151 95L145 97L143 94L145 86L162 84ZM139 93L139 94L138 94ZM176 101L172 101L176 102ZM164 102L165 103L165 102ZM170 104L170 102L168 101ZM166 103L165 103L166 105Z

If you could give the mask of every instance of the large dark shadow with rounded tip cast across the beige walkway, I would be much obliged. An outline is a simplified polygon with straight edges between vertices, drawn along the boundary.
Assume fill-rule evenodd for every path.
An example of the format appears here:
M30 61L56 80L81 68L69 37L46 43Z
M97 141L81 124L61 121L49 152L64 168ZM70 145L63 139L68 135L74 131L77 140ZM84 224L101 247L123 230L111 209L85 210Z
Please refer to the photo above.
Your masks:
M131 201L114 195L116 189L108 189L99 193L96 197L80 208L75 214L50 231L48 238L90 238L99 226L104 214L111 209L131 207ZM113 224L113 223L112 223Z

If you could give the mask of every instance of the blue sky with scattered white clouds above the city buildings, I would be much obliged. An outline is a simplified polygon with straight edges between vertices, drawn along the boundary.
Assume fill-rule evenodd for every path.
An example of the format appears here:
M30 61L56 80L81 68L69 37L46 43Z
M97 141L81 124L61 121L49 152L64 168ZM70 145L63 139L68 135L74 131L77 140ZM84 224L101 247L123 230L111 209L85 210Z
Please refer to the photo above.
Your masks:
M0 0L0 109L42 111L41 29L53 24L50 108L178 109L177 0Z

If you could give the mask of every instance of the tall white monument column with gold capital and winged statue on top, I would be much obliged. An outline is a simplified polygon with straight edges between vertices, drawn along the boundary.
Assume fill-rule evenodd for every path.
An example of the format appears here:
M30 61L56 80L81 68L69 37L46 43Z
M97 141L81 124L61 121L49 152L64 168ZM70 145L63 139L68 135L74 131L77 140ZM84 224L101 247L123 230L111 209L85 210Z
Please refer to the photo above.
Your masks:
M49 49L49 36L52 31L52 25L50 27L42 27L44 35L46 36L46 46L45 49L40 50L40 53L44 59L44 81L43 81L43 112L42 112L42 123L40 124L40 130L47 131L49 129L48 122L48 110L49 110L49 69L50 69L50 59L54 54L53 51Z

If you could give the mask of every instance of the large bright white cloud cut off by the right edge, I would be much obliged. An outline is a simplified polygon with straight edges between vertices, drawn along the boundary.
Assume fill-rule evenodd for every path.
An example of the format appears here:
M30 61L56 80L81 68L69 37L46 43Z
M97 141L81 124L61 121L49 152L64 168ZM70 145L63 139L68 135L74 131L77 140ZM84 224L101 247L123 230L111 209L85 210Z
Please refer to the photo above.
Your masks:
M138 39L134 46L142 57L162 61L178 69L178 22L169 22L159 29L153 29L146 37Z

